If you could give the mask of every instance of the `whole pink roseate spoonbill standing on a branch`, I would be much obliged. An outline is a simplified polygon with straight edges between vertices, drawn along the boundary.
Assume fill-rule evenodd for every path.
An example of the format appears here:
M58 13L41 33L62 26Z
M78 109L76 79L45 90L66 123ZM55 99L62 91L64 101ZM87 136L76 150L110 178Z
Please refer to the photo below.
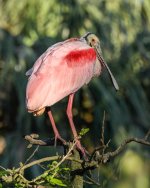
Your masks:
M81 38L71 38L49 47L27 71L29 76L26 89L26 106L28 112L35 116L42 115L46 109L57 139L61 138L50 108L52 105L69 96L67 116L73 136L77 131L73 122L72 105L74 94L89 81L107 68L116 90L118 84L102 57L100 41L92 33ZM85 150L77 140L77 148L85 155Z

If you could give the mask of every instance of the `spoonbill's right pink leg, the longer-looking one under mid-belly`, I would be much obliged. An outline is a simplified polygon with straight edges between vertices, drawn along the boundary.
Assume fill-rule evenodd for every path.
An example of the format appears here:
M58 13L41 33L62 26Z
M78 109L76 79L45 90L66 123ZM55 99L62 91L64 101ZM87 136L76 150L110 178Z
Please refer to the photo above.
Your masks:
M72 115L73 99L74 99L74 93L69 95L68 106L67 106L67 116L68 116L68 119L69 119L69 123L70 123L70 127L71 127L71 130L72 130L74 139L77 140L77 148L81 151L83 156L86 157L86 153L85 153L86 151L81 146L80 140L77 139L78 134L77 134L76 128L74 126L74 122L73 122L73 115Z

